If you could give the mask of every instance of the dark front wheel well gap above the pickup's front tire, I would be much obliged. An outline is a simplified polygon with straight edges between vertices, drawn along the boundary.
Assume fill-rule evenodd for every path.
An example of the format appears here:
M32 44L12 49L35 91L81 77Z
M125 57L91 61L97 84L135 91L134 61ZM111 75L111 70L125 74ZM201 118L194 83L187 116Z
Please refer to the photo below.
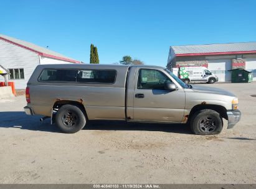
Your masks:
M190 119L194 113L196 113L197 111L200 111L202 109L212 109L214 111L217 111L217 113L219 113L222 118L228 119L227 118L227 109L225 109L224 106L202 103L202 104L198 104L198 105L194 106L191 109L191 111L189 113L188 122L190 121Z

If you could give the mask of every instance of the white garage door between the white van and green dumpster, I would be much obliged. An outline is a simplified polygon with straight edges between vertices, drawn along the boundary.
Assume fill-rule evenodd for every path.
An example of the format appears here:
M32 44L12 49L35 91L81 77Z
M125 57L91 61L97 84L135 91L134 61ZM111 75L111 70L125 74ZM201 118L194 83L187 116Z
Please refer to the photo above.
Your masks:
M208 60L208 69L218 76L219 81L231 81L231 60Z

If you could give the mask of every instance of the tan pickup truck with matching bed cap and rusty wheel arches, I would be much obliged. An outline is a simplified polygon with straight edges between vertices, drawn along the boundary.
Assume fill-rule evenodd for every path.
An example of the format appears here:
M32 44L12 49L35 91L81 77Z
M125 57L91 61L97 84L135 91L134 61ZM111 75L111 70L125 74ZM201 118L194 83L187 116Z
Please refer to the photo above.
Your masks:
M39 65L27 83L26 114L51 118L67 133L90 120L189 124L219 134L240 120L229 91L186 85L171 71L146 65Z

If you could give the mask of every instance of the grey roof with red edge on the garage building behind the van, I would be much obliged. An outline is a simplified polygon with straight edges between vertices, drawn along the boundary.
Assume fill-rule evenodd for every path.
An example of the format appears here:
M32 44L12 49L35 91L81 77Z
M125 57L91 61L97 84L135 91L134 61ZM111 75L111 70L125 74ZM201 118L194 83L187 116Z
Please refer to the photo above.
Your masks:
M256 53L256 42L171 46L177 57Z

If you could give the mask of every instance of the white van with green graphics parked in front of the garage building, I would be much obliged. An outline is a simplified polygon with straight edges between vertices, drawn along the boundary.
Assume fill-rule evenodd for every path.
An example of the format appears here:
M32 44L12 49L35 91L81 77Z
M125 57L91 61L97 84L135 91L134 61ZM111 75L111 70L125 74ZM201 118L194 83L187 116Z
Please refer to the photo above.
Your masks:
M174 75L178 76L184 83L215 83L218 77L206 67L179 67L173 68Z

